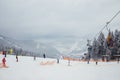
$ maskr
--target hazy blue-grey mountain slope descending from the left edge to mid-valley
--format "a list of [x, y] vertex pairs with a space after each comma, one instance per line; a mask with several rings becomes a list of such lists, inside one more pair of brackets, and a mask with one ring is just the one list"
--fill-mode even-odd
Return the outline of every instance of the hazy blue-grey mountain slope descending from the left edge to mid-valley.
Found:
[[38, 43], [34, 40], [17, 41], [3, 35], [0, 35], [0, 47], [14, 47], [17, 49], [22, 49], [23, 51], [30, 52], [27, 53], [28, 55], [32, 53], [33, 55], [40, 57], [42, 57], [43, 53], [45, 53], [46, 56], [50, 58], [57, 58], [60, 56], [60, 52], [50, 45]]

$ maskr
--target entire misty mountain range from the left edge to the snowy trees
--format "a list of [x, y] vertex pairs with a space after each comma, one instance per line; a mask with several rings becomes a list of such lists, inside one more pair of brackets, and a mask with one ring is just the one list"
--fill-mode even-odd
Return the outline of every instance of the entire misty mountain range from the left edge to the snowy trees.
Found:
[[62, 55], [81, 54], [87, 51], [87, 38], [81, 39], [39, 39], [39, 40], [15, 40], [0, 35], [0, 45], [4, 47], [14, 47], [29, 51], [36, 56], [42, 57], [45, 53], [47, 57], [57, 58]]

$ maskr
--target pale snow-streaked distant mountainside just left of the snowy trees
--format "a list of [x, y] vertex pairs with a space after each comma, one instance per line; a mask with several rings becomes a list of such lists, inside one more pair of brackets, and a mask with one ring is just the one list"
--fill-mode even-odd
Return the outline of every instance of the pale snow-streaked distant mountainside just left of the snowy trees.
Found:
[[87, 51], [87, 39], [54, 42], [53, 46], [62, 54], [81, 54]]

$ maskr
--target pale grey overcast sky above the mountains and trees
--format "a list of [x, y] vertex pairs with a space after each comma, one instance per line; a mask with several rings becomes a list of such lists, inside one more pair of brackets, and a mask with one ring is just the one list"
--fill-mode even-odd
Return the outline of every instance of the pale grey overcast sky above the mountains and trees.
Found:
[[[0, 0], [0, 34], [15, 39], [96, 34], [120, 10], [120, 0]], [[120, 29], [120, 14], [109, 25]]]

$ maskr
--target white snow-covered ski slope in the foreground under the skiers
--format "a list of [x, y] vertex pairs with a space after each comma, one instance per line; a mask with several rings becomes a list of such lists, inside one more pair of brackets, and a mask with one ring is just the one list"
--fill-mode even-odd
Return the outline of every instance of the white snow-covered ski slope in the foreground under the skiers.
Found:
[[[68, 66], [65, 60], [57, 64], [55, 59], [36, 58], [34, 61], [33, 57], [18, 57], [19, 62], [16, 62], [15, 56], [7, 55], [9, 68], [0, 68], [0, 80], [120, 80], [120, 64], [117, 62], [95, 65], [93, 62], [71, 61]], [[0, 55], [0, 60], [2, 58]], [[53, 63], [41, 65], [47, 61]]]

